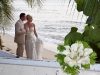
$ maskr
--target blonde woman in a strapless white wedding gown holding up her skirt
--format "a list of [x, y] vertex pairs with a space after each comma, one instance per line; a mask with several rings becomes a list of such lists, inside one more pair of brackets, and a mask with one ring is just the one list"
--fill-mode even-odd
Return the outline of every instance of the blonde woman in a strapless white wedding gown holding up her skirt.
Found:
[[[27, 22], [24, 24], [24, 28], [26, 30], [25, 49], [26, 49], [27, 59], [32, 59], [32, 60], [42, 59], [41, 53], [37, 51], [37, 49], [38, 50], [42, 49], [41, 48], [42, 41], [38, 38], [35, 29], [35, 24], [32, 23], [32, 16], [27, 15], [26, 18], [27, 18]], [[34, 35], [36, 36], [36, 41]], [[39, 45], [40, 48], [38, 48], [38, 46], [36, 45]]]

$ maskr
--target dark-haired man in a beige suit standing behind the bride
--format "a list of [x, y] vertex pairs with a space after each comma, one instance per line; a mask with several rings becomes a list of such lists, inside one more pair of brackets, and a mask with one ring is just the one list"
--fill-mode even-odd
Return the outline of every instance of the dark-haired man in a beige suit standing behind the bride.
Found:
[[15, 38], [14, 42], [17, 43], [16, 58], [23, 56], [24, 45], [25, 45], [25, 29], [23, 21], [26, 20], [25, 13], [20, 14], [20, 19], [15, 24]]

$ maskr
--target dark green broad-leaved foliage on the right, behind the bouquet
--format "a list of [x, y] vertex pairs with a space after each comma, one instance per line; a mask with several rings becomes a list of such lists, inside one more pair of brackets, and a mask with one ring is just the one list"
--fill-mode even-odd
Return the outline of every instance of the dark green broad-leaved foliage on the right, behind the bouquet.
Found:
[[[77, 5], [78, 12], [83, 12], [88, 16], [84, 32], [77, 32], [78, 28], [72, 27], [71, 32], [65, 37], [70, 45], [75, 41], [85, 41], [97, 53], [97, 61], [100, 60], [100, 1], [99, 0], [74, 0]], [[69, 3], [71, 0], [69, 0]], [[69, 4], [70, 5], [70, 4]]]

